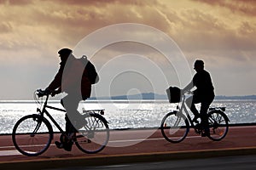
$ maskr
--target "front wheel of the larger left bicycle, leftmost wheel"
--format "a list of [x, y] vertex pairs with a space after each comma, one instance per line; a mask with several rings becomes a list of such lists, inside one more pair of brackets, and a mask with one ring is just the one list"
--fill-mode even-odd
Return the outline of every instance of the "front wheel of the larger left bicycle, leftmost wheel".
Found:
[[39, 115], [21, 117], [12, 133], [15, 148], [25, 156], [38, 156], [49, 148], [53, 138], [49, 122]]

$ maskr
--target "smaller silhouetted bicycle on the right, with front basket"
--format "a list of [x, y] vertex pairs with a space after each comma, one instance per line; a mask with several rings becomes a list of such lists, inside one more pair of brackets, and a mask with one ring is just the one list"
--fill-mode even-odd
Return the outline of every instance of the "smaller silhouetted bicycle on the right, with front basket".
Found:
[[[171, 111], [163, 117], [160, 129], [165, 139], [172, 143], [179, 143], [186, 138], [189, 128], [194, 128], [195, 133], [202, 134], [204, 128], [201, 122], [193, 122], [184, 104], [185, 94], [182, 94], [181, 103], [177, 105], [177, 111]], [[207, 113], [210, 127], [209, 139], [219, 141], [224, 139], [229, 130], [229, 118], [224, 113], [225, 107], [209, 108]], [[190, 126], [189, 126], [190, 123]]]

